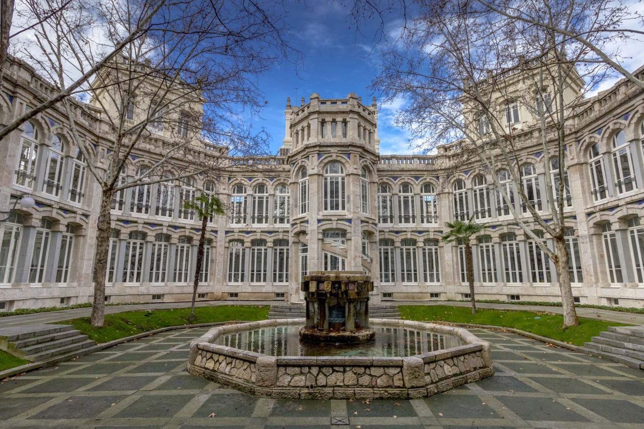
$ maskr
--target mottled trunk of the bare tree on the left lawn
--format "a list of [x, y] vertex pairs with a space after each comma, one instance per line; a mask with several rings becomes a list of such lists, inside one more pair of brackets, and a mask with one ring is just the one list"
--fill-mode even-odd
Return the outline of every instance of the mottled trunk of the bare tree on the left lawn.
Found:
[[[105, 323], [105, 277], [108, 270], [110, 210], [113, 189], [103, 189], [99, 220], [96, 225], [96, 262], [94, 265], [94, 303], [91, 307], [91, 325], [100, 328]], [[117, 275], [115, 272], [114, 275]]]

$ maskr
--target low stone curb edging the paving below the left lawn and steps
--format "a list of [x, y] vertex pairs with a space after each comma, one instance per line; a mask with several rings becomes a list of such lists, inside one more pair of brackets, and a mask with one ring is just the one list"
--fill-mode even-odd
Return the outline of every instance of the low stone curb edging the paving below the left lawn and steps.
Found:
[[140, 332], [139, 334], [134, 334], [129, 337], [113, 339], [112, 341], [108, 341], [107, 343], [99, 343], [97, 345], [93, 345], [88, 348], [81, 348], [81, 350], [76, 350], [75, 352], [72, 352], [72, 353], [61, 354], [61, 356], [56, 356], [56, 357], [53, 357], [52, 359], [47, 359], [46, 361], [28, 363], [26, 365], [21, 365], [20, 367], [14, 367], [14, 368], [9, 368], [8, 370], [0, 371], [0, 380], [5, 379], [6, 377], [15, 376], [16, 374], [21, 374], [23, 372], [35, 370], [38, 368], [50, 367], [55, 363], [68, 361], [70, 359], [73, 359], [74, 357], [85, 356], [86, 354], [90, 354], [93, 352], [100, 352], [100, 350], [104, 350], [105, 348], [109, 348], [121, 343], [126, 343], [128, 341], [132, 341], [133, 339], [143, 338], [154, 334], [160, 334], [161, 332], [166, 332], [167, 330], [204, 328], [204, 327], [227, 325], [227, 324], [234, 324], [234, 323], [247, 323], [247, 321], [230, 320], [230, 321], [221, 321], [221, 322], [213, 322], [213, 323], [197, 323], [196, 325], [167, 326], [164, 328], [148, 330], [146, 332]]

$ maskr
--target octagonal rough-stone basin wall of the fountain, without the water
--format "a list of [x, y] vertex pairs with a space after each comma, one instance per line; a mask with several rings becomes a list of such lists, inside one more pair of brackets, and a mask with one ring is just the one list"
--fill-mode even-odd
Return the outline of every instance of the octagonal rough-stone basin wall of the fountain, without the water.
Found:
[[191, 343], [188, 372], [278, 399], [412, 399], [494, 374], [489, 343], [465, 329], [417, 321], [370, 319], [370, 325], [442, 334], [457, 338], [460, 345], [413, 356], [270, 356], [215, 344], [231, 334], [304, 323], [305, 319], [277, 319], [211, 329]]

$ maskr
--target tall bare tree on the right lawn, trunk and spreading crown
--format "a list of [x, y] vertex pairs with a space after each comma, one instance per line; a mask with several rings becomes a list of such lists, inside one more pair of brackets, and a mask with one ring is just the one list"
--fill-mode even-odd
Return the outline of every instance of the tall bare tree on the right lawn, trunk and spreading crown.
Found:
[[[565, 241], [565, 151], [574, 107], [603, 79], [607, 64], [554, 28], [583, 32], [594, 46], [604, 46], [614, 36], [601, 28], [614, 17], [573, 16], [576, 9], [566, 2], [526, 2], [522, 13], [548, 23], [540, 26], [497, 14], [479, 1], [416, 3], [417, 18], [389, 45], [374, 85], [388, 99], [409, 101], [397, 120], [423, 149], [456, 141], [447, 146], [452, 163], [476, 161], [489, 171], [497, 209], [554, 262], [564, 327], [577, 325]], [[524, 165], [525, 148], [542, 153], [545, 189], [526, 178], [532, 171]], [[553, 239], [554, 249], [534, 227]]]

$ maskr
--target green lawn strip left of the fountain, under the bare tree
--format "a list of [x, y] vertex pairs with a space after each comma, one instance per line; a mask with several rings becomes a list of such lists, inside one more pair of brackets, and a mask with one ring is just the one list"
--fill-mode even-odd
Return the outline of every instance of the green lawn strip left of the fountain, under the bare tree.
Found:
[[124, 338], [140, 332], [169, 326], [212, 323], [227, 320], [263, 320], [269, 316], [268, 306], [256, 305], [218, 305], [216, 307], [197, 307], [194, 309], [196, 319], [188, 323], [190, 309], [128, 311], [105, 316], [105, 325], [95, 329], [90, 318], [64, 321], [73, 325], [97, 343], [106, 343], [113, 339]]

